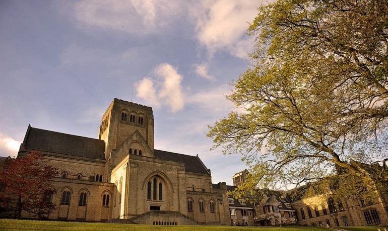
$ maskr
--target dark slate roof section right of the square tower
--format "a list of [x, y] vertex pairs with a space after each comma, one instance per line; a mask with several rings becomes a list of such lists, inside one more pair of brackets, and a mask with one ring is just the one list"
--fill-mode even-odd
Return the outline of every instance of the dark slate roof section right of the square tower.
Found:
[[201, 159], [197, 156], [189, 156], [179, 153], [167, 152], [155, 149], [155, 157], [168, 160], [181, 162], [184, 164], [186, 172], [201, 173], [210, 175], [208, 168], [202, 163]]

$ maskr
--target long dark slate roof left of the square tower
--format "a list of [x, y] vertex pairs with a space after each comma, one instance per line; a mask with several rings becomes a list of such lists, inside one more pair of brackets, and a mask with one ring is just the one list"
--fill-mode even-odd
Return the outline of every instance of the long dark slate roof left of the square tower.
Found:
[[29, 127], [23, 143], [28, 149], [105, 160], [103, 140]]

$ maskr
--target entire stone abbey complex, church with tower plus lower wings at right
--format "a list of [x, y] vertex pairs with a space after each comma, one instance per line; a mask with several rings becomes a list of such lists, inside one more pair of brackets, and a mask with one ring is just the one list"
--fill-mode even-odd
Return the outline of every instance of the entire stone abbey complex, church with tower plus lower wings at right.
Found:
[[388, 224], [386, 192], [376, 201], [337, 204], [330, 192], [291, 200], [285, 192], [266, 190], [253, 204], [230, 198], [227, 192], [244, 182], [247, 170], [233, 176], [233, 186], [213, 184], [198, 155], [155, 149], [154, 139], [152, 108], [115, 98], [103, 114], [97, 139], [28, 126], [18, 157], [37, 151], [60, 169], [51, 184], [56, 193], [45, 197], [56, 205], [48, 219], [151, 225]]

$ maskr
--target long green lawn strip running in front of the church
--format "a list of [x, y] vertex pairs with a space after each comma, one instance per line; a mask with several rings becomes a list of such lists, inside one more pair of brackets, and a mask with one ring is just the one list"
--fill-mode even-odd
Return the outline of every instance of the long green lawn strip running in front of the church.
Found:
[[162, 226], [67, 221], [36, 221], [0, 219], [0, 230], [269, 230], [269, 231], [326, 231], [323, 227], [243, 227], [243, 226]]

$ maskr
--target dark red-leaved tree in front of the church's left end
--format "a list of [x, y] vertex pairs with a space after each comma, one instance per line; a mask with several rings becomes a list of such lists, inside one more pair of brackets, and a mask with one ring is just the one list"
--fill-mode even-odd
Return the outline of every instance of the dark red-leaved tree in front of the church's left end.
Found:
[[55, 189], [50, 186], [50, 180], [57, 174], [57, 168], [48, 165], [36, 152], [11, 161], [0, 173], [2, 216], [20, 218], [22, 212], [48, 216], [55, 208], [51, 203]]

